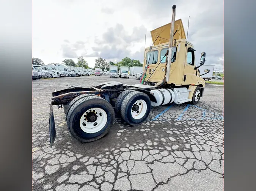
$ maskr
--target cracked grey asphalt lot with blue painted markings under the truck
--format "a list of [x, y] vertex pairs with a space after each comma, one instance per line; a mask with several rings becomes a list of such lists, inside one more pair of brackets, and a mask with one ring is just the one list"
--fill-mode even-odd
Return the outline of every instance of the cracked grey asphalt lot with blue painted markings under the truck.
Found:
[[143, 124], [116, 118], [108, 134], [82, 143], [68, 131], [63, 109], [53, 106], [56, 139], [49, 143], [54, 89], [92, 86], [109, 76], [32, 81], [33, 191], [222, 191], [223, 86], [206, 84], [197, 105], [152, 107]]

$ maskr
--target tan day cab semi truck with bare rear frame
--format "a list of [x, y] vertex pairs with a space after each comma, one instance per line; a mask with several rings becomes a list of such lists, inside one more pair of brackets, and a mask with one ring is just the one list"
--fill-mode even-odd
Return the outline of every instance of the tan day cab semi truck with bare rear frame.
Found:
[[[196, 50], [192, 43], [187, 42], [181, 19], [175, 21], [175, 12], [176, 5], [173, 5], [171, 23], [151, 31], [153, 45], [144, 52], [141, 84], [124, 85], [110, 81], [52, 93], [50, 147], [56, 137], [53, 105], [63, 107], [73, 137], [92, 142], [107, 134], [115, 112], [126, 123], [136, 126], [147, 119], [151, 106], [185, 102], [195, 105], [199, 102], [205, 81], [198, 68], [204, 64], [206, 53], [202, 52], [200, 65], [195, 66]], [[128, 73], [128, 69], [126, 71]]]

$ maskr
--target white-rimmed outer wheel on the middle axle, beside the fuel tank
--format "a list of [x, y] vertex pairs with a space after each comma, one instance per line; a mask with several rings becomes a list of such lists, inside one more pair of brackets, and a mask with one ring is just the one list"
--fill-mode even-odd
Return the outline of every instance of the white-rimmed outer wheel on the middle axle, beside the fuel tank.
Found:
[[[139, 106], [137, 111], [140, 112], [138, 114], [135, 111], [132, 112], [134, 105], [142, 106]], [[148, 118], [150, 109], [151, 101], [147, 94], [138, 91], [130, 92], [130, 94], [126, 95], [121, 104], [121, 117], [129, 125], [140, 125], [142, 122], [144, 122], [144, 120]]]

